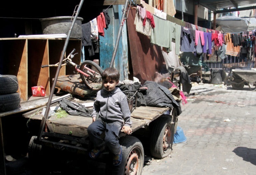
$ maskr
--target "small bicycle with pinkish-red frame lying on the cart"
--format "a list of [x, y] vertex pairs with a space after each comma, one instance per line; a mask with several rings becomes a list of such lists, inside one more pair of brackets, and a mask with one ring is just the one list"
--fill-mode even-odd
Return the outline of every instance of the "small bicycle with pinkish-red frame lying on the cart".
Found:
[[[76, 51], [76, 49], [73, 49], [70, 54], [67, 56], [67, 58], [63, 59], [63, 64], [61, 64], [61, 66], [66, 66], [67, 64], [74, 66], [75, 70], [77, 71], [77, 73], [80, 74], [83, 83], [87, 86], [88, 89], [90, 90], [100, 90], [103, 87], [102, 84], [102, 72], [103, 70], [101, 69], [101, 67], [96, 64], [95, 62], [91, 61], [91, 60], [85, 60], [84, 62], [82, 62], [81, 65], [77, 65], [74, 62], [72, 62], [72, 58], [74, 58], [74, 56], [78, 53], [74, 52]], [[50, 64], [50, 65], [42, 65], [42, 68], [45, 67], [58, 67], [59, 66], [59, 62], [56, 64]]]

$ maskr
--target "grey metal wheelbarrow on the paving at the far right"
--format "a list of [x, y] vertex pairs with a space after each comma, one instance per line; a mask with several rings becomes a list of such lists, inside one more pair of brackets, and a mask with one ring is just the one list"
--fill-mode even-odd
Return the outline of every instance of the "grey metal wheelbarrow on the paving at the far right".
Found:
[[241, 90], [244, 85], [247, 84], [251, 91], [255, 91], [256, 86], [254, 85], [256, 82], [256, 69], [232, 69], [230, 82], [233, 89]]

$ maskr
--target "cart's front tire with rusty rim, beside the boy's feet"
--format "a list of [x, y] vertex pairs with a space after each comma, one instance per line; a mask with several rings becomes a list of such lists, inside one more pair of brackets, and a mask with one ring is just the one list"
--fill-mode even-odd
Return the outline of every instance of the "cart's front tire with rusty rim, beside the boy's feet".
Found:
[[[144, 165], [144, 149], [141, 141], [133, 136], [124, 136], [119, 139], [122, 147], [122, 162], [118, 166], [108, 161], [106, 174], [108, 175], [139, 175]], [[111, 157], [110, 157], [111, 158]]]

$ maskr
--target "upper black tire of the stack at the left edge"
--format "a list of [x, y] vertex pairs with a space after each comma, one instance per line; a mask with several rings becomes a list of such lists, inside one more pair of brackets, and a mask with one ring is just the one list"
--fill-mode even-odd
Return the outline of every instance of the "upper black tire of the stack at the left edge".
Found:
[[18, 88], [18, 79], [15, 75], [0, 75], [0, 95], [15, 93]]

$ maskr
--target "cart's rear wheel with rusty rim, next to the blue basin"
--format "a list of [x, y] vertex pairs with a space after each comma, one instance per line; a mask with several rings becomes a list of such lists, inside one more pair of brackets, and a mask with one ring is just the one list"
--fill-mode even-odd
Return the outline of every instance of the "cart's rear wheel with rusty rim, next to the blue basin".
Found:
[[157, 118], [152, 126], [150, 153], [153, 157], [162, 159], [167, 157], [172, 149], [174, 138], [174, 124], [172, 118], [168, 115], [162, 115]]

